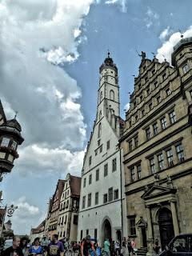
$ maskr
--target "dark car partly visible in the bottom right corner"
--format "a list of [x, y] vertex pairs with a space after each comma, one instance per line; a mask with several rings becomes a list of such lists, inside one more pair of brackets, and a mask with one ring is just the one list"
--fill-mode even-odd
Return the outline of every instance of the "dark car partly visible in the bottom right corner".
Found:
[[173, 238], [159, 256], [192, 256], [192, 233]]

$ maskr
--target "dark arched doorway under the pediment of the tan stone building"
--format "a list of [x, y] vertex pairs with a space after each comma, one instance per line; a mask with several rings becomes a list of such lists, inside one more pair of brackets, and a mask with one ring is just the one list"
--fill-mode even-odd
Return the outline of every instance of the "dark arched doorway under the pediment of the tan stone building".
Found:
[[162, 250], [174, 238], [174, 226], [171, 211], [167, 208], [159, 210], [158, 225], [161, 237]]

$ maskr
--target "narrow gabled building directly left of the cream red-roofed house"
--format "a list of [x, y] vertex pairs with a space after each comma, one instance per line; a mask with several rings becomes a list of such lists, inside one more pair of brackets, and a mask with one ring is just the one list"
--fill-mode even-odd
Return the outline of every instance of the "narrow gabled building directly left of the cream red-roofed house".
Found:
[[51, 238], [52, 234], [58, 234], [58, 214], [64, 185], [65, 181], [59, 179], [58, 185], [51, 200], [50, 214], [48, 214], [48, 218], [46, 218], [46, 229], [49, 230], [47, 234], [48, 238]]

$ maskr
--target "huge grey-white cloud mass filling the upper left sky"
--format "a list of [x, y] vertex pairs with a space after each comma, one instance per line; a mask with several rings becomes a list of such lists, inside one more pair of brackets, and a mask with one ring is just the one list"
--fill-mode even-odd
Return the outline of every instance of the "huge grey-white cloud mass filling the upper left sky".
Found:
[[[79, 56], [78, 45], [86, 40], [82, 20], [92, 2], [0, 3], [0, 98], [10, 118], [18, 110], [25, 138], [17, 160], [22, 174], [30, 167], [24, 165], [26, 159], [34, 172], [44, 168], [50, 173], [55, 167], [51, 160], [58, 160], [57, 169], [80, 168], [86, 140], [86, 123], [78, 103], [82, 92], [63, 66]], [[78, 158], [77, 166], [70, 166], [72, 157]], [[33, 162], [34, 158], [38, 161]]]

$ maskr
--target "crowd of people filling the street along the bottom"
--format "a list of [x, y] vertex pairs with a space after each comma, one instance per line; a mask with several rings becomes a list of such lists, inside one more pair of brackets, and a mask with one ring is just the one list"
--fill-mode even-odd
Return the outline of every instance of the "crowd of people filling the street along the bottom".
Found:
[[[30, 244], [27, 238], [13, 238], [13, 246], [3, 252], [3, 256], [137, 256], [137, 245], [134, 238], [122, 238], [122, 241], [110, 241], [105, 239], [103, 246], [99, 246], [96, 239], [91, 239], [90, 235], [82, 239], [82, 242], [69, 242], [66, 239], [58, 240], [58, 234], [53, 234], [52, 240], [46, 237], [35, 238]], [[154, 256], [158, 256], [161, 248], [158, 239], [154, 242]]]

